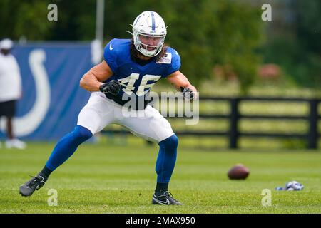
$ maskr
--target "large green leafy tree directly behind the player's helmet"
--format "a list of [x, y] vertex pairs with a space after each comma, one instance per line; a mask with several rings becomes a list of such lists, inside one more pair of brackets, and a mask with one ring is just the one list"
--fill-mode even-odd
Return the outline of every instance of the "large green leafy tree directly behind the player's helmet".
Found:
[[146, 1], [106, 3], [106, 36], [131, 35], [128, 24], [142, 11], [157, 11], [168, 25], [166, 43], [180, 53], [182, 71], [198, 84], [210, 78], [213, 66], [230, 66], [240, 80], [243, 93], [253, 83], [260, 56], [255, 48], [262, 40], [260, 8], [237, 1]]

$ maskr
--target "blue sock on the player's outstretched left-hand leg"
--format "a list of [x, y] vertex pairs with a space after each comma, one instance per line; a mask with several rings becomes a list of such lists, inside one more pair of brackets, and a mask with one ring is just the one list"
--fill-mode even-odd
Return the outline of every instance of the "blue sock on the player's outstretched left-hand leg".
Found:
[[93, 134], [90, 130], [77, 125], [71, 133], [63, 136], [63, 138], [57, 142], [56, 147], [54, 147], [53, 152], [51, 152], [49, 160], [46, 162], [46, 167], [51, 171], [56, 170], [59, 165], [63, 164], [63, 162], [73, 155], [78, 145], [81, 145], [81, 143], [91, 138], [91, 136], [93, 136]]

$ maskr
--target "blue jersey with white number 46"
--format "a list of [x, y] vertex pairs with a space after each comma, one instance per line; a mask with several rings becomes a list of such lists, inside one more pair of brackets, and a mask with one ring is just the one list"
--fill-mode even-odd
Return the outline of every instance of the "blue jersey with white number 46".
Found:
[[118, 80], [121, 83], [122, 89], [116, 98], [113, 98], [121, 105], [125, 103], [121, 102], [124, 93], [126, 96], [134, 95], [138, 99], [144, 97], [158, 80], [180, 68], [180, 56], [170, 47], [167, 48], [167, 53], [161, 60], [156, 61], [156, 58], [152, 58], [141, 66], [131, 59], [131, 40], [129, 39], [111, 40], [105, 47], [103, 58], [113, 71], [113, 76], [107, 81]]

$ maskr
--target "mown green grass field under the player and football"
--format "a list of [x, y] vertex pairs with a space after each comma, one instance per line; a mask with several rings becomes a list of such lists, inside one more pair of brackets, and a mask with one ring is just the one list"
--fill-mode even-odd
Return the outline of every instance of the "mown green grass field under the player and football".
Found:
[[[0, 149], [0, 213], [321, 213], [321, 152], [202, 151], [180, 147], [170, 192], [183, 206], [151, 205], [157, 150], [146, 145], [84, 144], [58, 167], [41, 190], [19, 195], [19, 185], [44, 166], [54, 144], [29, 143], [27, 150]], [[245, 181], [226, 172], [242, 162]], [[305, 189], [277, 192], [297, 180]], [[49, 206], [50, 189], [58, 205]], [[263, 189], [272, 206], [263, 207]]]

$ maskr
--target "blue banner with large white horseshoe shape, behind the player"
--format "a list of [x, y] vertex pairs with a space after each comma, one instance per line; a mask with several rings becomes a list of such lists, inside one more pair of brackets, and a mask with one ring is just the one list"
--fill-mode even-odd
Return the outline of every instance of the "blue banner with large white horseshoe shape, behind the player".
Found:
[[91, 43], [27, 44], [15, 46], [12, 53], [23, 88], [14, 118], [16, 137], [58, 140], [73, 130], [88, 101], [90, 93], [79, 81], [93, 66]]

